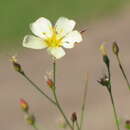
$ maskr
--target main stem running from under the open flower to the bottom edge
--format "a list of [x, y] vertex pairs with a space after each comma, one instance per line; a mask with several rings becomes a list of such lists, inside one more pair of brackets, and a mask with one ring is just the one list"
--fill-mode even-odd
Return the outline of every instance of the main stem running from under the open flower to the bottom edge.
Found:
[[57, 95], [56, 95], [56, 60], [55, 59], [53, 61], [53, 82], [54, 82], [53, 95], [54, 95], [54, 99], [55, 99], [55, 102], [56, 102], [56, 106], [57, 106], [58, 110], [60, 111], [60, 113], [62, 114], [62, 116], [64, 117], [68, 126], [73, 130], [73, 127], [70, 124], [68, 118], [66, 117], [64, 111], [62, 110], [60, 103], [58, 101]]

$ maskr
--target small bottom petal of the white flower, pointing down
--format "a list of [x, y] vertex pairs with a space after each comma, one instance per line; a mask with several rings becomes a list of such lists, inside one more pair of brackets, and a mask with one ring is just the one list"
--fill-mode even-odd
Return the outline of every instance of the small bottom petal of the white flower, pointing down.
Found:
[[65, 51], [61, 47], [58, 47], [58, 48], [51, 48], [50, 47], [47, 50], [56, 59], [60, 59], [61, 57], [63, 57], [65, 55]]

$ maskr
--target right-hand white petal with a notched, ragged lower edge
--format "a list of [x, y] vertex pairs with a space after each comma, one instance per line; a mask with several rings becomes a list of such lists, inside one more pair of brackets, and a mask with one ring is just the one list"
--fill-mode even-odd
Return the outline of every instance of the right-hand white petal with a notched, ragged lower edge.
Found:
[[74, 43], [79, 43], [82, 41], [82, 36], [78, 31], [72, 31], [68, 33], [62, 40], [63, 47], [65, 48], [73, 48]]

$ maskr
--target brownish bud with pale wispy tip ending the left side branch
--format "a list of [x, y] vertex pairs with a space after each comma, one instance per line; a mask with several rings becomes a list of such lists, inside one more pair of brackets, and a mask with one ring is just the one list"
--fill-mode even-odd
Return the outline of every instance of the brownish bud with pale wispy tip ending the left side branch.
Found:
[[16, 59], [15, 56], [12, 56], [12, 57], [11, 57], [11, 62], [12, 62], [12, 64], [13, 64], [13, 66], [14, 66], [14, 69], [15, 69], [17, 72], [19, 72], [19, 73], [21, 73], [21, 74], [24, 74], [24, 72], [23, 72], [23, 70], [22, 70], [22, 68], [21, 68], [21, 65], [17, 62], [17, 59]]

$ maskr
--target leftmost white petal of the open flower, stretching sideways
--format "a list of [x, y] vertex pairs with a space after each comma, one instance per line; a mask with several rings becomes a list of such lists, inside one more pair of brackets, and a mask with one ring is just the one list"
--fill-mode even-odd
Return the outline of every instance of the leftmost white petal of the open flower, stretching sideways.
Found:
[[32, 49], [43, 49], [46, 47], [46, 44], [38, 37], [26, 35], [23, 40], [23, 46]]

